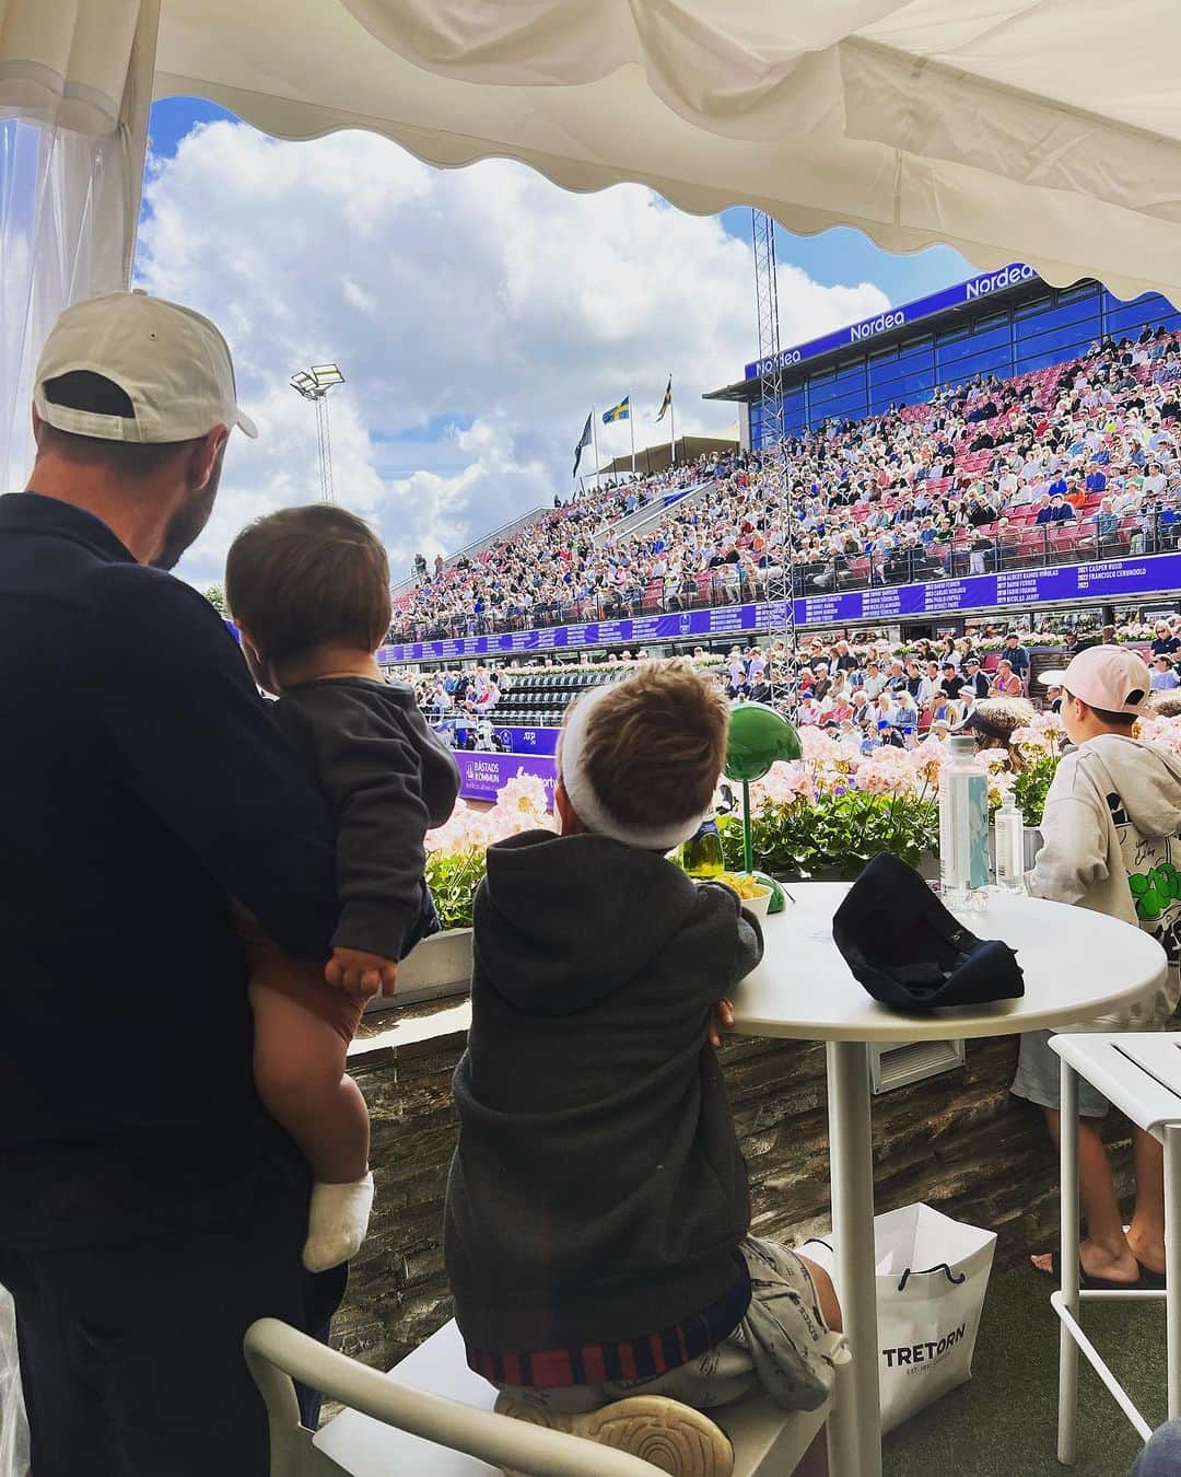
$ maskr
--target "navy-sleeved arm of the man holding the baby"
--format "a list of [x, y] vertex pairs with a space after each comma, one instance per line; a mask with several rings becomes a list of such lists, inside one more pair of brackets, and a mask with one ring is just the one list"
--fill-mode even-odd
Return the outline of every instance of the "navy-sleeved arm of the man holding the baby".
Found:
[[326, 957], [332, 815], [221, 617], [180, 580], [120, 564], [94, 576], [89, 637], [115, 772], [278, 944]]

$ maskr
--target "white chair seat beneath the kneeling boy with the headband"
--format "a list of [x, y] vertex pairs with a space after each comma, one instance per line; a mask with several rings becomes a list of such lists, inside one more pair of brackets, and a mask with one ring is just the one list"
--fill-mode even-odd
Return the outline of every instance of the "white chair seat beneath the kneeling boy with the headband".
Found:
[[[462, 1402], [464, 1406], [477, 1406], [481, 1413], [492, 1411], [496, 1402], [496, 1390], [468, 1368], [455, 1322], [419, 1344], [390, 1371], [390, 1378], [413, 1390]], [[779, 1409], [768, 1396], [756, 1396], [707, 1413], [734, 1446], [734, 1477], [787, 1477], [815, 1440], [828, 1409], [793, 1413]], [[350, 1477], [499, 1477], [500, 1471], [487, 1461], [391, 1430], [357, 1411], [345, 1411], [329, 1421], [313, 1445]], [[641, 1462], [639, 1467], [647, 1470], [648, 1464]], [[537, 1468], [539, 1473], [549, 1470]]]

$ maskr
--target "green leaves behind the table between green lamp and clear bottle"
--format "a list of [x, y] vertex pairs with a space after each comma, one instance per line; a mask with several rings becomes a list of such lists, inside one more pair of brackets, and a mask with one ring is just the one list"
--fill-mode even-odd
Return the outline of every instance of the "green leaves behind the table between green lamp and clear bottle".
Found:
[[[726, 866], [743, 870], [743, 823], [719, 821]], [[856, 877], [878, 852], [889, 851], [917, 867], [939, 849], [939, 803], [914, 795], [821, 795], [765, 805], [751, 827], [754, 866], [785, 880]]]

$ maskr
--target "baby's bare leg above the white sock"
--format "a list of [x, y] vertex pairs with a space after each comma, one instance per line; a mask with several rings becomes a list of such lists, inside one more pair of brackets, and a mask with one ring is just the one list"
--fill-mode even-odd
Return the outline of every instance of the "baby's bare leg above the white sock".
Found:
[[369, 1168], [369, 1112], [345, 1075], [345, 1043], [298, 1001], [251, 985], [254, 1083], [319, 1182], [347, 1185]]

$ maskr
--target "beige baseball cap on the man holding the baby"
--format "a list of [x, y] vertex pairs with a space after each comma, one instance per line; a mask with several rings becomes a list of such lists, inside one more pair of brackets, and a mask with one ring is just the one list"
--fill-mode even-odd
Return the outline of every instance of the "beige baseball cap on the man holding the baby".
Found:
[[[53, 405], [46, 381], [87, 369], [117, 384], [134, 418]], [[146, 292], [103, 292], [68, 307], [50, 329], [32, 387], [49, 425], [106, 442], [187, 442], [214, 425], [258, 430], [238, 408], [233, 360], [221, 332], [190, 307]]]

